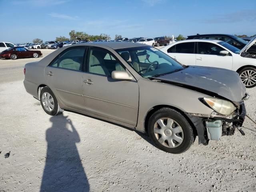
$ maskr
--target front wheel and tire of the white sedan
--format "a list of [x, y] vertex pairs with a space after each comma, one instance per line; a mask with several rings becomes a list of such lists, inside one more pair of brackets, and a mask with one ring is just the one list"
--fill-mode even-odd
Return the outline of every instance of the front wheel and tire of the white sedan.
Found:
[[256, 68], [245, 67], [238, 73], [246, 88], [253, 88], [256, 86]]

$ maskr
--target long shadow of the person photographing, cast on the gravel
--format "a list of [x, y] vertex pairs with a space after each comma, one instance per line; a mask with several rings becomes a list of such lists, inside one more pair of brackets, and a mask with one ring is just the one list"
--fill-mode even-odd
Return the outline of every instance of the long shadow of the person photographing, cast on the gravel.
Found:
[[47, 154], [40, 192], [88, 192], [90, 185], [76, 148], [80, 142], [78, 132], [63, 114], [51, 117], [50, 121], [52, 127], [46, 130]]

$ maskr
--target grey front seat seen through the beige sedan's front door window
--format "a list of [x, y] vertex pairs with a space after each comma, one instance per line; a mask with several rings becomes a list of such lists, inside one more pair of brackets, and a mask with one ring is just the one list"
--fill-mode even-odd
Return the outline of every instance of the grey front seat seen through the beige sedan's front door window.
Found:
[[90, 53], [89, 72], [110, 76], [102, 56], [95, 50]]

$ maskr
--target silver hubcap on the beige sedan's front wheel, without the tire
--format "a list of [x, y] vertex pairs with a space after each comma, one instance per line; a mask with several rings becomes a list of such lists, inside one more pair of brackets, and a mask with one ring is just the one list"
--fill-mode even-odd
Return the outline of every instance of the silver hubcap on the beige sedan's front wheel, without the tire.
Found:
[[168, 148], [182, 144], [184, 133], [182, 127], [171, 118], [160, 118], [154, 124], [154, 135], [158, 142]]

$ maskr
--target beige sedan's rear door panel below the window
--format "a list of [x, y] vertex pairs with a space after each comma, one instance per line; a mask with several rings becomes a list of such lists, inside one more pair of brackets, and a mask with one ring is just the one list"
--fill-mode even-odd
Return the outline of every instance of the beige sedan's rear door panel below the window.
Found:
[[84, 110], [82, 72], [47, 66], [44, 76], [63, 104]]

